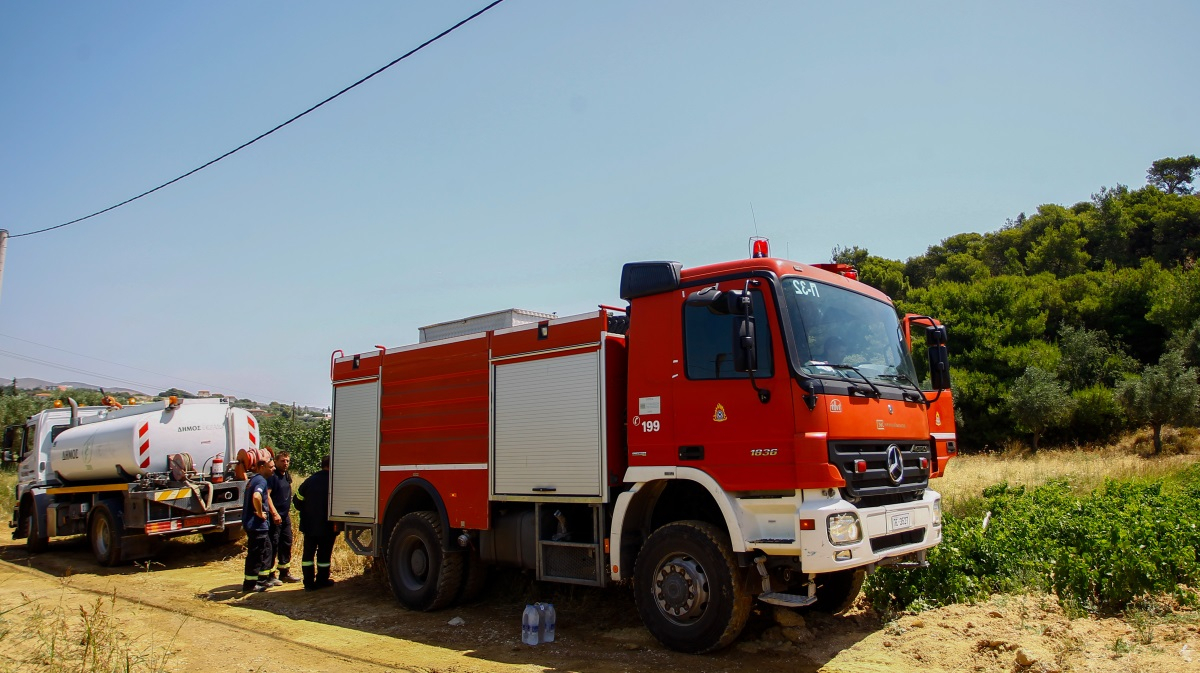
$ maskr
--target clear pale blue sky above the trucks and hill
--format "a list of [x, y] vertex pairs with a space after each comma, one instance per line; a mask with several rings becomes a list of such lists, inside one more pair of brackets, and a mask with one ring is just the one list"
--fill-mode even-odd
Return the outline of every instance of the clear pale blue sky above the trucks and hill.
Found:
[[[157, 186], [484, 5], [0, 4], [0, 228]], [[325, 405], [334, 349], [619, 304], [623, 263], [743, 257], [755, 220], [799, 262], [906, 259], [1195, 154], [1198, 25], [1192, 1], [506, 0], [12, 239], [0, 375]]]

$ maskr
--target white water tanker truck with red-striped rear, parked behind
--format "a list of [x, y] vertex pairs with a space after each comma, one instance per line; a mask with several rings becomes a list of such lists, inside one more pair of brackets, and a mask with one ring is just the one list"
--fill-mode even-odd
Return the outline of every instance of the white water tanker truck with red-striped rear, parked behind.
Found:
[[47, 409], [5, 429], [19, 462], [13, 539], [31, 552], [88, 535], [101, 565], [154, 553], [178, 535], [241, 535], [238, 458], [259, 451], [258, 421], [224, 399]]

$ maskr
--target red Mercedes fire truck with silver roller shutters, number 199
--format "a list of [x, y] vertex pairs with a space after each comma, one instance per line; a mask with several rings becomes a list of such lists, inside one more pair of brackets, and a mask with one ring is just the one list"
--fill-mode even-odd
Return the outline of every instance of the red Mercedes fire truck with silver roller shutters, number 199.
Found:
[[730, 644], [755, 600], [836, 612], [864, 572], [924, 564], [956, 452], [946, 328], [848, 266], [752, 251], [626, 264], [624, 308], [335, 351], [330, 513], [352, 548], [420, 611], [493, 564], [631, 582], [690, 653]]

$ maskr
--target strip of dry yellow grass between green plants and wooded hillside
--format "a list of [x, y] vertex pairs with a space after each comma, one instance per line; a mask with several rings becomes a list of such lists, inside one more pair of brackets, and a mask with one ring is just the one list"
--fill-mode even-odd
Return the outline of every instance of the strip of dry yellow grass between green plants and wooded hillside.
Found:
[[1121, 437], [1105, 446], [1042, 449], [1037, 453], [1013, 444], [996, 453], [959, 456], [950, 461], [946, 476], [934, 483], [942, 494], [947, 511], [983, 489], [1007, 481], [1013, 486], [1037, 486], [1052, 479], [1066, 479], [1076, 488], [1088, 491], [1105, 479], [1160, 479], [1200, 462], [1200, 446], [1194, 428], [1164, 431], [1160, 456], [1150, 455], [1153, 446], [1150, 431]]

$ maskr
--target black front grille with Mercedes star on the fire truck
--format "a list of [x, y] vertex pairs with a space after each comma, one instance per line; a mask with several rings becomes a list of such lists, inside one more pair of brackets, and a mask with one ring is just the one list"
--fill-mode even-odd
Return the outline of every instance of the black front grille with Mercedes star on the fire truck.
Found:
[[[888, 449], [895, 446], [904, 463], [904, 476], [896, 483], [888, 474]], [[929, 468], [920, 468], [920, 459], [932, 465], [928, 443], [916, 441], [830, 441], [829, 463], [846, 480], [842, 497], [863, 507], [896, 505], [919, 500], [929, 488]], [[856, 471], [857, 461], [866, 462], [866, 471]]]

